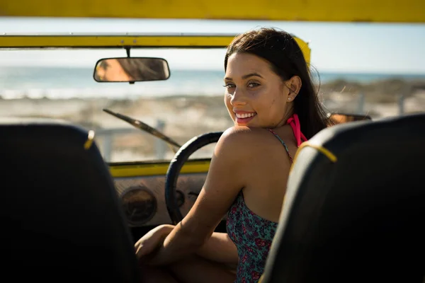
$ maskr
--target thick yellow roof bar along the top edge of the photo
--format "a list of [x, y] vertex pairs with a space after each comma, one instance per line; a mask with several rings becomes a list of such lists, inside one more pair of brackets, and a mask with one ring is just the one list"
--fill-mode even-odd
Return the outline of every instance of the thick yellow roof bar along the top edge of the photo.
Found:
[[0, 16], [425, 23], [425, 1], [2, 0]]

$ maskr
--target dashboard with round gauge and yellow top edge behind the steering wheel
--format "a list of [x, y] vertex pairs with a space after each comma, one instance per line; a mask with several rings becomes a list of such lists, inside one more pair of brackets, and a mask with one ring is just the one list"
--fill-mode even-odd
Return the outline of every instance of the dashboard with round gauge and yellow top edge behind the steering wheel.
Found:
[[[206, 162], [209, 166], [210, 161]], [[168, 168], [168, 164], [142, 164], [145, 169], [150, 171], [152, 171], [152, 168], [157, 168], [156, 172], [139, 170], [139, 173], [133, 174], [131, 171], [134, 172], [140, 164], [137, 166], [115, 166], [115, 172], [117, 169], [120, 170], [120, 173], [115, 173], [115, 176], [113, 173], [115, 190], [123, 207], [128, 226], [157, 226], [172, 223], [166, 209], [164, 194], [166, 180], [166, 170], [164, 169]], [[207, 171], [203, 170], [205, 169], [205, 160], [188, 161], [188, 166], [186, 168], [185, 166], [183, 166], [176, 184], [177, 202], [183, 216], [189, 212], [196, 202], [207, 176]], [[130, 173], [123, 174], [123, 171]]]

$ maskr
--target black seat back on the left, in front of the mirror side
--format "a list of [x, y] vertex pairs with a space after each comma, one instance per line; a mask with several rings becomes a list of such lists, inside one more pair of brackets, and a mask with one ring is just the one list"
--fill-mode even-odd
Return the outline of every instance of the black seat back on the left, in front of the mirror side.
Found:
[[130, 231], [89, 132], [62, 122], [0, 121], [0, 157], [1, 276], [138, 282]]

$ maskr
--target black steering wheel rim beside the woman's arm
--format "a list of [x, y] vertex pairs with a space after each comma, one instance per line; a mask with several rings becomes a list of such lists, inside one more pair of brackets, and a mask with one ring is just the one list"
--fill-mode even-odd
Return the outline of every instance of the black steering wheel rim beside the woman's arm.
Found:
[[179, 204], [177, 204], [176, 199], [177, 178], [179, 178], [183, 164], [186, 163], [189, 156], [198, 149], [217, 142], [222, 133], [223, 132], [209, 132], [207, 134], [200, 134], [197, 137], [193, 137], [188, 140], [186, 144], [183, 144], [179, 151], [177, 151], [174, 155], [174, 158], [171, 159], [168, 171], [166, 172], [165, 204], [174, 225], [178, 224], [183, 219], [183, 215], [181, 214]]

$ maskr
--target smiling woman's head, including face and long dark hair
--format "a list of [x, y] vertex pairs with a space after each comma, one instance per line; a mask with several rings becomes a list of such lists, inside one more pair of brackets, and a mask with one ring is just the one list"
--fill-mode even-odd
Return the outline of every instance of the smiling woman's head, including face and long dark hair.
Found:
[[[291, 35], [283, 35], [273, 29], [253, 30], [229, 45], [225, 103], [237, 125], [278, 128], [296, 114], [302, 132], [310, 138], [326, 127], [327, 113], [319, 103], [300, 47]], [[261, 47], [269, 41], [276, 47]]]

